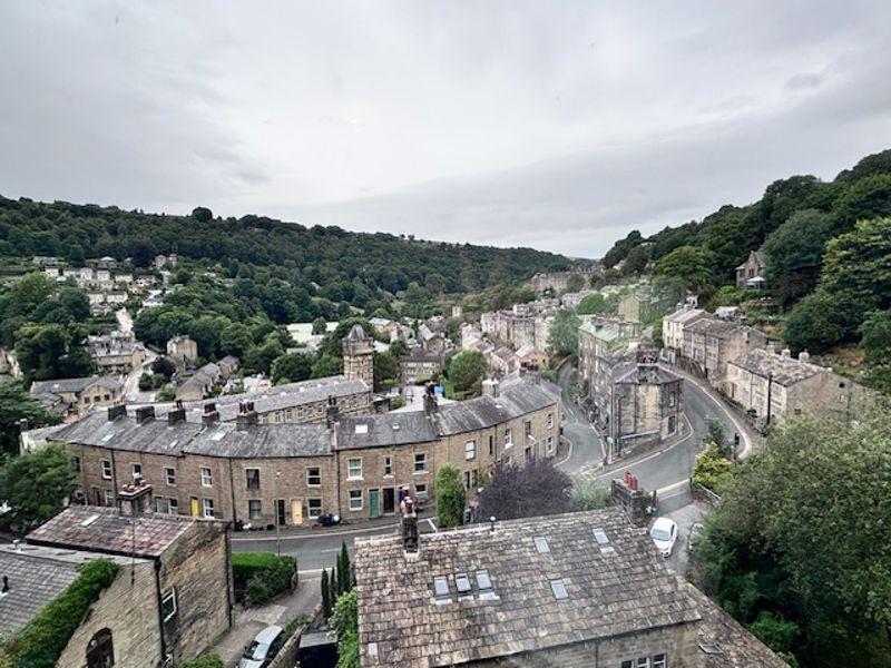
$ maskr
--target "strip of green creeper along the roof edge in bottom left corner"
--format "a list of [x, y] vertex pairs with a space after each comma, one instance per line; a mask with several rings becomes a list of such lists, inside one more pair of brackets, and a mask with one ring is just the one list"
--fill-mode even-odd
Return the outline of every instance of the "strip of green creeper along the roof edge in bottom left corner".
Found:
[[108, 559], [87, 561], [55, 600], [0, 645], [0, 666], [52, 668], [101, 592], [115, 581], [119, 567]]

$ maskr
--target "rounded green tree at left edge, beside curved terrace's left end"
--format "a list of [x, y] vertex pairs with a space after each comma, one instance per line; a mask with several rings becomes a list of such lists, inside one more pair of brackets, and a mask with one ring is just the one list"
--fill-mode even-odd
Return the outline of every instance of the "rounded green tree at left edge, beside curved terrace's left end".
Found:
[[58, 443], [47, 443], [8, 458], [0, 465], [0, 502], [9, 504], [3, 523], [27, 530], [59, 513], [75, 491], [71, 458]]

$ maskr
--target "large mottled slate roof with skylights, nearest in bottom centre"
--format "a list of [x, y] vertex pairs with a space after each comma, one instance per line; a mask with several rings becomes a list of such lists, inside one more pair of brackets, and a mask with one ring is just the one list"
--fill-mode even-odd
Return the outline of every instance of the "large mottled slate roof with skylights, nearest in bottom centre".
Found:
[[[537, 551], [536, 537], [550, 553]], [[478, 570], [488, 571], [497, 600], [479, 598]], [[618, 509], [424, 533], [417, 560], [404, 557], [399, 537], [360, 539], [355, 573], [362, 666], [452, 666], [701, 619], [653, 542]], [[458, 600], [456, 573], [468, 573], [473, 600]], [[434, 598], [440, 576], [452, 602]], [[558, 578], [561, 600], [550, 583]]]

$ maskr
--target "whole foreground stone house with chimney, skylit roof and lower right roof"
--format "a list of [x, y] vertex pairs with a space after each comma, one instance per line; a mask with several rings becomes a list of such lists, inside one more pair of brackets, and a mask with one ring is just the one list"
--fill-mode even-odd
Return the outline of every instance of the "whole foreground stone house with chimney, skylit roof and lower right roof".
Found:
[[417, 521], [356, 540], [362, 668], [786, 666], [617, 508], [421, 536]]

